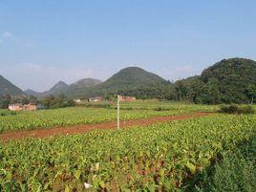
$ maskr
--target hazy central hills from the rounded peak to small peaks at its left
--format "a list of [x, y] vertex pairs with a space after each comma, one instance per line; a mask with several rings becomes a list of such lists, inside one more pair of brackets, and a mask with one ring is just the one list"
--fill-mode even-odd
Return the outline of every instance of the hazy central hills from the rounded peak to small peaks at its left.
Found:
[[26, 93], [37, 97], [60, 93], [72, 98], [105, 97], [116, 94], [147, 97], [147, 93], [150, 93], [151, 96], [158, 96], [160, 94], [159, 87], [166, 83], [167, 81], [159, 75], [152, 74], [139, 67], [127, 67], [104, 82], [93, 78], [84, 78], [66, 85], [66, 83], [60, 81], [48, 92], [36, 93], [30, 90]]

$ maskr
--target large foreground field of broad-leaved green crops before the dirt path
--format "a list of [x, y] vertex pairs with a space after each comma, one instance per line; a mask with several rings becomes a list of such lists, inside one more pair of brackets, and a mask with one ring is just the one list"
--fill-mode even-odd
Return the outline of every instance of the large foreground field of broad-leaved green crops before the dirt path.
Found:
[[256, 116], [215, 115], [1, 143], [0, 191], [200, 189], [203, 171], [255, 132]]

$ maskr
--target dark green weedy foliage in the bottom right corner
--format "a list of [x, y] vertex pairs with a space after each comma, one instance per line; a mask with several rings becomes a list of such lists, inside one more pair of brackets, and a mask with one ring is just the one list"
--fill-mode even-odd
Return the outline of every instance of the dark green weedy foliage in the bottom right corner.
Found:
[[[194, 191], [256, 191], [256, 137], [244, 140], [224, 153], [214, 167], [204, 172], [203, 185]], [[191, 189], [192, 191], [192, 189]]]

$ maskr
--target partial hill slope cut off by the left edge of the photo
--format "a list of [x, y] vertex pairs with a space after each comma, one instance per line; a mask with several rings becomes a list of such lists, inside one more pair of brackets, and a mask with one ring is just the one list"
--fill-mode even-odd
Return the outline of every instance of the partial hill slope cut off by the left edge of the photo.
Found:
[[0, 96], [11, 95], [11, 96], [21, 96], [25, 93], [19, 89], [17, 86], [13, 85], [9, 80], [0, 75]]

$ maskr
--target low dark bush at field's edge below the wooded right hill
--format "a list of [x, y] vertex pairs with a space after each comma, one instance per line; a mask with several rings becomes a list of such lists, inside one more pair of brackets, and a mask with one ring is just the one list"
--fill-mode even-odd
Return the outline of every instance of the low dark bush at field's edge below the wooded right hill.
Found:
[[254, 114], [255, 110], [253, 109], [252, 106], [239, 106], [239, 105], [224, 105], [221, 106], [220, 111], [221, 113], [224, 114]]

